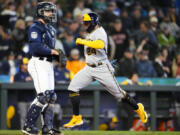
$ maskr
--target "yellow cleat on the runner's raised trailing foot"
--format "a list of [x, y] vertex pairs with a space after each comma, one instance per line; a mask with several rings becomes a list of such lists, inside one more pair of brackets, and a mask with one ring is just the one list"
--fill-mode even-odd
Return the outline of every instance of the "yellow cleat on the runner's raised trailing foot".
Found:
[[137, 105], [139, 108], [135, 110], [135, 112], [139, 115], [139, 118], [141, 119], [141, 121], [143, 123], [146, 123], [148, 120], [148, 116], [147, 116], [146, 111], [144, 110], [144, 106], [141, 103], [138, 103]]

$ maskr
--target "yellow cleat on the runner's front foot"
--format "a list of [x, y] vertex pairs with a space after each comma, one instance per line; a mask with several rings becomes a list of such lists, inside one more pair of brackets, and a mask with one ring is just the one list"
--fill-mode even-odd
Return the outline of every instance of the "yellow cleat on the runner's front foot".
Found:
[[73, 115], [71, 121], [64, 124], [65, 128], [73, 128], [75, 126], [80, 126], [83, 124], [82, 115]]

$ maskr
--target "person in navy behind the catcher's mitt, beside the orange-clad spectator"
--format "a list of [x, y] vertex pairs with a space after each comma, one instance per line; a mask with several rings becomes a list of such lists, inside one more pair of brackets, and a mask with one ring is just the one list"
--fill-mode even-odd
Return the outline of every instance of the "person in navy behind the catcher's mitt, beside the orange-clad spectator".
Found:
[[54, 67], [54, 78], [57, 84], [60, 83], [69, 83], [71, 76], [70, 71], [67, 70], [64, 66], [60, 63], [56, 63]]

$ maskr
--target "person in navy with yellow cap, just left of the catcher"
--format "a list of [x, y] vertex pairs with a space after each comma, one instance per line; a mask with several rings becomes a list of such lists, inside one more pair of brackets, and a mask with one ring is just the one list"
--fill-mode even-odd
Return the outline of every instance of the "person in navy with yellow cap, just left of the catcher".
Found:
[[30, 82], [32, 81], [31, 76], [27, 70], [28, 58], [23, 58], [20, 63], [20, 70], [14, 76], [14, 82]]

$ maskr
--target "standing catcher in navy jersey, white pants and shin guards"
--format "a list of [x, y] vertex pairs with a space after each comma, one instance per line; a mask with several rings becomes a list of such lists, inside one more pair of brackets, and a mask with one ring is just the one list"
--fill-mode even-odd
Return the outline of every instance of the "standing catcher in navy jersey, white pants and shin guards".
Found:
[[59, 53], [54, 49], [56, 31], [51, 23], [56, 22], [56, 6], [50, 2], [40, 2], [36, 14], [39, 19], [28, 32], [32, 50], [28, 71], [33, 78], [37, 97], [29, 108], [22, 132], [27, 135], [39, 134], [35, 122], [41, 113], [42, 134], [60, 135], [60, 131], [53, 129], [53, 106], [57, 96], [54, 92], [52, 56]]

